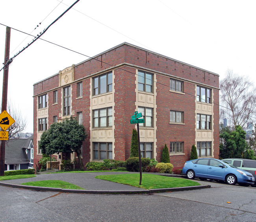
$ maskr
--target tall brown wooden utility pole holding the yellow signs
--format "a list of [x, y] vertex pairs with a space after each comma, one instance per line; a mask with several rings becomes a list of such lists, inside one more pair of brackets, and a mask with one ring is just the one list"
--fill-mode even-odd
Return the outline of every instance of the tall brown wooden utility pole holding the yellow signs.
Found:
[[[4, 76], [3, 76], [3, 92], [2, 92], [2, 112], [7, 109], [7, 90], [8, 90], [8, 73], [9, 73], [9, 60], [10, 56], [10, 39], [11, 28], [6, 27], [6, 47], [4, 52]], [[2, 130], [2, 129], [1, 129]], [[6, 143], [0, 140], [0, 176], [4, 176], [4, 162], [5, 162], [5, 149]]]

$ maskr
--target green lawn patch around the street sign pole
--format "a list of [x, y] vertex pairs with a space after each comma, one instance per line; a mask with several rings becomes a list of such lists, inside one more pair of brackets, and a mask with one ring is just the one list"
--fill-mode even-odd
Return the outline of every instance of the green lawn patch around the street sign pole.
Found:
[[101, 180], [108, 180], [116, 183], [122, 183], [143, 189], [159, 189], [200, 185], [200, 183], [194, 182], [192, 180], [171, 176], [160, 176], [155, 174], [142, 174], [141, 185], [139, 185], [139, 174], [100, 175], [96, 176], [95, 178]]

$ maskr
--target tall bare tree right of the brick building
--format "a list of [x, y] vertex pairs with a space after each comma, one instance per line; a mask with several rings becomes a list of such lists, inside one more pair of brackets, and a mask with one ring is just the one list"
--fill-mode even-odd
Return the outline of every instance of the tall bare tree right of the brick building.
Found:
[[221, 101], [227, 109], [221, 108], [228, 119], [232, 119], [234, 124], [242, 128], [250, 122], [250, 118], [255, 115], [256, 88], [247, 77], [234, 74], [228, 70], [227, 76], [220, 81]]

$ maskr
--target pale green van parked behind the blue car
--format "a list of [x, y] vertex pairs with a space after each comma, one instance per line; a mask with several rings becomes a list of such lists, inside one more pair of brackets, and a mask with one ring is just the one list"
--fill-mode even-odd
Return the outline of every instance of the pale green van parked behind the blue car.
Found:
[[228, 158], [228, 159], [223, 159], [222, 161], [226, 163], [230, 163], [239, 169], [250, 172], [255, 178], [255, 182], [253, 186], [256, 187], [256, 160]]

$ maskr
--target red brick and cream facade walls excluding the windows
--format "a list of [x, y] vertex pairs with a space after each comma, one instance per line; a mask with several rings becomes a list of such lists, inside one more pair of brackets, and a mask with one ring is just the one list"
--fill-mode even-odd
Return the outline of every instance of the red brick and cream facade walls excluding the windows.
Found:
[[[185, 64], [152, 51], [123, 43], [108, 51], [73, 65], [71, 77], [64, 83], [60, 73], [34, 84], [34, 162], [41, 158], [37, 145], [39, 114], [47, 117], [48, 127], [53, 116], [63, 119], [63, 87], [71, 86], [71, 114], [82, 112], [83, 125], [88, 137], [83, 144], [83, 163], [94, 160], [93, 142], [113, 144], [113, 158], [126, 160], [130, 156], [130, 143], [134, 124], [131, 116], [138, 106], [149, 105], [153, 110], [152, 127], [140, 127], [142, 141], [152, 143], [152, 158], [161, 161], [161, 150], [170, 142], [183, 142], [183, 151], [170, 154], [174, 169], [181, 169], [189, 160], [191, 147], [197, 141], [211, 142], [211, 157], [219, 157], [219, 76], [215, 73]], [[153, 75], [153, 92], [140, 92], [137, 87], [137, 72]], [[113, 73], [113, 91], [93, 95], [93, 78], [97, 75]], [[70, 72], [68, 68], [65, 72]], [[70, 75], [71, 76], [71, 75]], [[170, 90], [170, 78], [183, 83], [184, 92]], [[67, 80], [65, 79], [65, 80]], [[77, 83], [82, 82], [82, 97], [77, 98]], [[64, 83], [64, 84], [63, 84]], [[211, 103], [197, 102], [197, 85], [211, 90]], [[53, 91], [58, 90], [58, 103], [53, 104]], [[40, 112], [37, 98], [48, 95], [47, 110]], [[100, 101], [101, 99], [101, 101]], [[141, 101], [140, 101], [141, 99]], [[109, 101], [110, 102], [109, 102]], [[96, 103], [97, 105], [94, 105]], [[113, 127], [93, 128], [93, 107], [113, 108]], [[183, 113], [182, 124], [170, 123], [170, 110]], [[199, 110], [202, 110], [200, 112]], [[197, 130], [197, 114], [211, 116], [210, 130]], [[91, 135], [93, 134], [93, 135]], [[101, 134], [101, 135], [100, 135]], [[103, 136], [102, 136], [103, 135]], [[38, 155], [37, 155], [38, 154]], [[209, 156], [209, 155], [208, 155]]]

